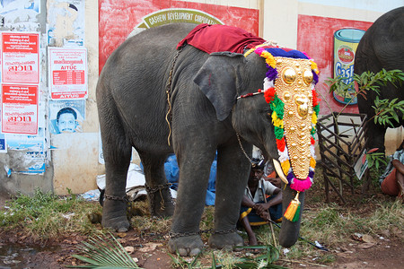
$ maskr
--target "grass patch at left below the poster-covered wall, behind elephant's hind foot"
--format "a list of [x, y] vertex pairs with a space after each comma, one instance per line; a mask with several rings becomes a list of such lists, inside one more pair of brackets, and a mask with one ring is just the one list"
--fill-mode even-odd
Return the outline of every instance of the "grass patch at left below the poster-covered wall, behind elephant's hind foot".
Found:
[[101, 213], [101, 206], [88, 203], [76, 195], [59, 197], [43, 193], [16, 195], [0, 211], [2, 230], [22, 230], [36, 239], [56, 239], [72, 233], [89, 234], [97, 230], [87, 215]]

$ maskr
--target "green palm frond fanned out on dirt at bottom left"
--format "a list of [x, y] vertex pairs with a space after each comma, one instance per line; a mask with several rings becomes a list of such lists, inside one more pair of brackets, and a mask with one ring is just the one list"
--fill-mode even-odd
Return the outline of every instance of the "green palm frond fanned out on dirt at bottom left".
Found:
[[77, 248], [83, 255], [73, 257], [87, 265], [68, 266], [74, 268], [140, 268], [119, 241], [110, 233], [110, 238], [95, 235]]

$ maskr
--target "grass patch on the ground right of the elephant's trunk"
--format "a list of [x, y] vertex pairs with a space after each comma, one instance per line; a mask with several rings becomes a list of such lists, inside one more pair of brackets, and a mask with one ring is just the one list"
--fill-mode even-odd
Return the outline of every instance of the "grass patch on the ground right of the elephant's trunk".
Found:
[[[398, 230], [404, 225], [404, 207], [400, 201], [368, 201], [373, 210], [365, 212], [361, 205], [356, 208], [338, 204], [326, 204], [317, 209], [304, 212], [301, 236], [321, 242], [329, 249], [347, 246], [355, 233], [378, 238], [384, 230]], [[370, 205], [372, 203], [372, 205]], [[366, 205], [362, 205], [365, 209]], [[327, 264], [336, 260], [333, 252], [319, 251], [303, 241], [298, 241], [287, 259], [302, 260], [316, 258], [316, 263]]]

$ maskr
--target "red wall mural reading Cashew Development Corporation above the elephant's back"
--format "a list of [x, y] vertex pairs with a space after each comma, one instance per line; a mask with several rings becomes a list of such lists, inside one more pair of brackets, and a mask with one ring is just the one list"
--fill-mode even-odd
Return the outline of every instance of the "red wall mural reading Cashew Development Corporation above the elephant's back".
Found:
[[256, 9], [159, 0], [100, 0], [99, 7], [100, 72], [111, 52], [129, 35], [162, 23], [224, 23], [259, 34], [259, 10]]

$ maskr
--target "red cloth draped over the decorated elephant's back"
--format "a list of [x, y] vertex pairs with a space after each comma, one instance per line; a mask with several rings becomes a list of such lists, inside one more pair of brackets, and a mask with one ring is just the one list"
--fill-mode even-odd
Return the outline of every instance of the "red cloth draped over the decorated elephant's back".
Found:
[[237, 27], [202, 23], [178, 43], [177, 49], [189, 44], [209, 54], [221, 51], [243, 53], [244, 49], [253, 48], [264, 42], [265, 39]]

